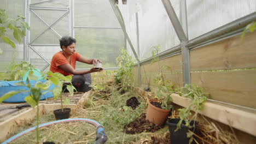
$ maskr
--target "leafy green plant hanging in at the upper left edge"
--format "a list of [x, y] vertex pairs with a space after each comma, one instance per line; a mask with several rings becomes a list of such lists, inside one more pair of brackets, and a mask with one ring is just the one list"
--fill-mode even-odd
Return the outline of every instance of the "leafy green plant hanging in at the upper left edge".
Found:
[[[30, 30], [30, 27], [27, 25], [26, 22], [22, 21], [25, 17], [18, 15], [16, 20], [10, 19], [6, 10], [0, 9], [0, 37], [4, 40], [5, 43], [9, 44], [11, 47], [15, 48], [15, 44], [13, 40], [7, 37], [5, 32], [7, 32], [7, 28], [10, 31], [13, 31], [13, 37], [21, 43], [21, 39], [26, 35], [26, 29]], [[21, 28], [17, 26], [17, 22], [21, 23]], [[0, 49], [0, 54], [3, 53], [3, 50]]]

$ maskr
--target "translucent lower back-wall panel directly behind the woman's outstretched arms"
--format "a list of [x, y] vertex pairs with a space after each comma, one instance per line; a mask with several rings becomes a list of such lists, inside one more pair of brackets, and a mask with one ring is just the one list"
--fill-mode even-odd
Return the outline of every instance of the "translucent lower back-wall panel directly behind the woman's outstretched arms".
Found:
[[[101, 59], [104, 68], [117, 67], [115, 59], [125, 42], [122, 29], [75, 28], [75, 39], [76, 50], [82, 56]], [[92, 65], [78, 62], [76, 68], [92, 68]]]

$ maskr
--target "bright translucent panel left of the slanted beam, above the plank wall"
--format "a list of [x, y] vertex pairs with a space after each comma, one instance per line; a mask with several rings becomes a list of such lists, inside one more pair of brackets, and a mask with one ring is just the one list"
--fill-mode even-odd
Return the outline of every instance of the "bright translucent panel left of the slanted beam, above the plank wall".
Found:
[[[180, 1], [172, 1], [172, 5], [180, 17]], [[161, 1], [127, 1], [126, 10], [121, 12], [125, 17], [127, 33], [129, 33], [133, 46], [137, 43], [136, 12], [138, 13], [139, 57], [141, 60], [152, 56], [153, 46], [161, 46], [161, 51], [165, 51], [180, 44]]]

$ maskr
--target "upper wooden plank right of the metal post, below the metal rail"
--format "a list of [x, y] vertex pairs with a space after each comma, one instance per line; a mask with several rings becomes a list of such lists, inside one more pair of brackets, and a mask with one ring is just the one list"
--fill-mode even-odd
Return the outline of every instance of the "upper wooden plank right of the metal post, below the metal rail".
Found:
[[256, 32], [246, 33], [190, 51], [190, 70], [256, 68]]

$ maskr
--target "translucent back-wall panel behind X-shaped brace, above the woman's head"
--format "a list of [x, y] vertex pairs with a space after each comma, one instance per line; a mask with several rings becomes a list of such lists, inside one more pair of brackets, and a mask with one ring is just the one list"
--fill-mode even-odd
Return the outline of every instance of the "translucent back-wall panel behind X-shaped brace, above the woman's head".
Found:
[[[32, 1], [31, 3], [37, 2], [41, 1]], [[40, 6], [40, 8], [48, 6], [67, 8], [69, 7], [69, 1], [58, 0], [35, 4], [32, 5], [32, 11], [30, 11], [30, 45], [59, 44], [61, 37], [69, 35], [69, 14], [67, 10], [34, 9], [34, 6]], [[55, 24], [52, 25], [53, 23]], [[51, 29], [48, 28], [49, 26], [51, 26]], [[39, 34], [41, 35], [38, 37]]]

